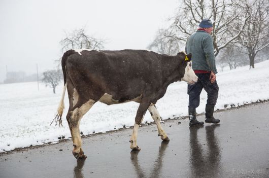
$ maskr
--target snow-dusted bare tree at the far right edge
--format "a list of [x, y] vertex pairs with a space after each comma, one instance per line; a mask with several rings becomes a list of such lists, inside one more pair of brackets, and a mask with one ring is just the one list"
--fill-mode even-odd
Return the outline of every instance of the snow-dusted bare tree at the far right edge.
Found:
[[268, 0], [255, 0], [253, 4], [246, 0], [247, 19], [246, 29], [241, 35], [241, 43], [248, 51], [249, 68], [254, 68], [254, 60], [258, 52], [269, 46], [269, 3]]

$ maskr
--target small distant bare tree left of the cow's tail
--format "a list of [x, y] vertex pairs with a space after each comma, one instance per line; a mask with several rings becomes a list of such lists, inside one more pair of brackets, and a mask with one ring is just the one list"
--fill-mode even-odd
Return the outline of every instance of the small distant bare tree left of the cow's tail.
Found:
[[53, 88], [53, 93], [55, 94], [55, 88], [57, 85], [59, 85], [61, 79], [62, 74], [59, 72], [59, 70], [47, 70], [43, 73], [42, 82], [44, 82], [46, 86]]

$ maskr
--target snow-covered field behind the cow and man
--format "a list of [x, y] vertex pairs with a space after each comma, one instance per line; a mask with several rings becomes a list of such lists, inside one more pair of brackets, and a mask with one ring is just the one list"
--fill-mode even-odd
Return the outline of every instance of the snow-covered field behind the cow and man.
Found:
[[[251, 70], [249, 66], [245, 66], [219, 72], [217, 82], [219, 98], [215, 110], [267, 100], [269, 60], [255, 64], [255, 69]], [[58, 137], [71, 137], [65, 120], [69, 103], [67, 93], [63, 127], [59, 128], [54, 123], [50, 126], [60, 101], [63, 84], [56, 88], [56, 94], [43, 83], [39, 87], [38, 91], [36, 82], [0, 85], [0, 152], [57, 142]], [[207, 94], [203, 91], [197, 113], [204, 112], [206, 100]], [[97, 102], [81, 120], [80, 130], [87, 135], [132, 126], [138, 105], [136, 102], [129, 102], [108, 106]], [[163, 120], [187, 116], [187, 84], [171, 84], [156, 106]], [[153, 122], [148, 112], [143, 123], [145, 122]]]

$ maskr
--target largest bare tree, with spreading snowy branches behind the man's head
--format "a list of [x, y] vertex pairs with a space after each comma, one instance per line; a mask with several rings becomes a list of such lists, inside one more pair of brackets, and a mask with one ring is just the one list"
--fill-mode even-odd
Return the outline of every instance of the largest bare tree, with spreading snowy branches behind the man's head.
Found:
[[[242, 1], [242, 0], [240, 0]], [[167, 29], [165, 37], [177, 42], [186, 42], [194, 33], [201, 20], [213, 21], [213, 45], [215, 56], [242, 33], [249, 16], [242, 14], [241, 2], [233, 0], [183, 0], [178, 14], [171, 18], [172, 25]], [[240, 23], [240, 28], [233, 28]], [[238, 26], [238, 25], [237, 25]]]

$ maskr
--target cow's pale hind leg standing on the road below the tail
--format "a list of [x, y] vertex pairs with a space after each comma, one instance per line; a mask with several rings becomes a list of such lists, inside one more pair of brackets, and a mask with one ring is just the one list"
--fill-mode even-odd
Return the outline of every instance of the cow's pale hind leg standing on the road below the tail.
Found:
[[86, 155], [84, 155], [84, 152], [81, 148], [82, 146], [82, 140], [80, 136], [80, 120], [85, 115], [92, 105], [94, 104], [94, 100], [89, 99], [88, 101], [82, 101], [80, 98], [78, 99], [78, 102], [74, 105], [73, 109], [68, 112], [68, 115], [66, 116], [66, 119], [69, 124], [69, 128], [72, 135], [73, 140], [73, 155], [75, 158], [86, 158]]

